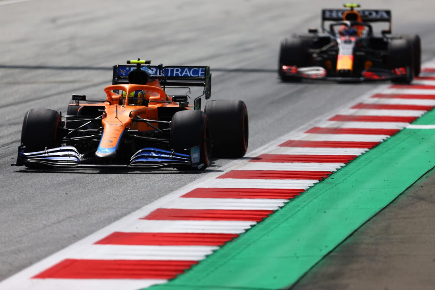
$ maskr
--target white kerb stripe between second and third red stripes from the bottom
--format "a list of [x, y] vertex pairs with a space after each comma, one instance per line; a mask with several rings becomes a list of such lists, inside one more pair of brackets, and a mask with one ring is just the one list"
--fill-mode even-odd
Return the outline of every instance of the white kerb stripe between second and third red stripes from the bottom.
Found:
[[243, 233], [256, 222], [238, 220], [135, 220], [120, 232], [130, 233]]

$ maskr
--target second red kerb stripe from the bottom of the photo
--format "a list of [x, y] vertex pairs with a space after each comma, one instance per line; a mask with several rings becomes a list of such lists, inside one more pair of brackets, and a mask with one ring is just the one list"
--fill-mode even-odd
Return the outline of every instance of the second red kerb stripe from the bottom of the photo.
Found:
[[124, 233], [114, 232], [96, 244], [140, 246], [221, 246], [234, 233]]

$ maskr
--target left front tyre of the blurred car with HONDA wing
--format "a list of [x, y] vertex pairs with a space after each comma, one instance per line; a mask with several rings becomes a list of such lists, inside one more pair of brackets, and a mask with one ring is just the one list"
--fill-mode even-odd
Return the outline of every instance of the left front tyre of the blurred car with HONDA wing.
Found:
[[298, 82], [301, 77], [289, 77], [284, 75], [282, 66], [306, 66], [308, 40], [304, 38], [285, 38], [281, 40], [281, 46], [278, 57], [278, 76], [283, 81]]

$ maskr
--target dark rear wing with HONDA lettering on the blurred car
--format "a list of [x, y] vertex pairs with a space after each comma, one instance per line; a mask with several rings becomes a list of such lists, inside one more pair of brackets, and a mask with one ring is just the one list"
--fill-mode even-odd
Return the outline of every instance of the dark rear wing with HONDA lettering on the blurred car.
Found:
[[[349, 11], [348, 9], [322, 9], [321, 27], [325, 31], [325, 21], [343, 21], [343, 13]], [[373, 10], [361, 9], [356, 10], [361, 15], [363, 22], [388, 22], [391, 30], [391, 10]]]

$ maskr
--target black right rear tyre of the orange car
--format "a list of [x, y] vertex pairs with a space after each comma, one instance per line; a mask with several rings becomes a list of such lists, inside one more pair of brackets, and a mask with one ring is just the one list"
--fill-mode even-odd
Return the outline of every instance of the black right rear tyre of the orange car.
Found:
[[248, 150], [248, 109], [241, 100], [211, 100], [204, 108], [210, 120], [213, 156], [243, 157]]

